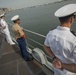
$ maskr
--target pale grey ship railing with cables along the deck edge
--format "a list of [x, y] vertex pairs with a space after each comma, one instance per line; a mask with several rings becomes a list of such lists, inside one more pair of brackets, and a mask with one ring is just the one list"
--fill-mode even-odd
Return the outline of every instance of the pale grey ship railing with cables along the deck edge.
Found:
[[[11, 24], [11, 23], [8, 23], [8, 24], [9, 24], [11, 27], [13, 26], [13, 24]], [[28, 33], [30, 33], [30, 34], [36, 35], [36, 36], [38, 36], [38, 37], [41, 37], [41, 38], [46, 38], [45, 35], [42, 35], [42, 34], [40, 34], [40, 33], [31, 31], [31, 30], [28, 30], [28, 29], [24, 29], [24, 31], [25, 31], [25, 32], [28, 32]], [[15, 36], [14, 36], [14, 34], [13, 34], [12, 32], [11, 32], [11, 36], [12, 36], [12, 39], [16, 42]], [[35, 43], [35, 44], [37, 44], [37, 45], [40, 45], [41, 47], [44, 46], [42, 43], [40, 43], [40, 42], [38, 42], [38, 41], [36, 41], [36, 40], [28, 37], [28, 35], [27, 35], [27, 39], [30, 40], [30, 41], [32, 41], [33, 43]], [[27, 41], [27, 40], [26, 40], [26, 41]], [[16, 42], [16, 43], [17, 43], [17, 42]], [[32, 46], [30, 43], [28, 43], [28, 42], [27, 42], [27, 45], [28, 45], [29, 53], [34, 52], [33, 55], [35, 55], [35, 56], [38, 56], [38, 54], [39, 54], [40, 58], [39, 58], [38, 61], [41, 62], [41, 64], [46, 65], [50, 70], [53, 71], [52, 63], [49, 61], [49, 60], [52, 60], [52, 58], [51, 58], [50, 56], [48, 56], [47, 54], [45, 54], [44, 51], [41, 50], [40, 48], [36, 48], [36, 47]], [[31, 49], [30, 47], [31, 47], [32, 49]], [[38, 53], [38, 54], [37, 54], [37, 53]], [[36, 58], [35, 56], [34, 56], [34, 58], [37, 60], [38, 57]], [[48, 60], [48, 59], [49, 59], [49, 60]]]

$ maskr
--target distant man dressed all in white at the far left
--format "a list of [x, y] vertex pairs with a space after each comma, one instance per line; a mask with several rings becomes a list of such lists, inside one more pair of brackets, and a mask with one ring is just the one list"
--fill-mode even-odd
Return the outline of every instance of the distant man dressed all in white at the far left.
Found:
[[0, 23], [1, 23], [1, 27], [2, 27], [2, 32], [5, 34], [7, 42], [10, 45], [14, 45], [15, 43], [11, 39], [10, 32], [8, 29], [8, 24], [5, 21], [5, 15], [4, 14], [0, 15], [0, 18], [1, 18]]

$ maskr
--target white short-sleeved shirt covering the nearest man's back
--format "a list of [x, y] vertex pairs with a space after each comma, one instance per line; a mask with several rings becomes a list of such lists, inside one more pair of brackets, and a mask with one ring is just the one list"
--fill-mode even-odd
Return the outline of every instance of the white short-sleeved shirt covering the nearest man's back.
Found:
[[[76, 46], [76, 37], [70, 32], [67, 27], [58, 26], [56, 29], [47, 34], [45, 45], [50, 47], [52, 52], [63, 63], [76, 63], [74, 49]], [[75, 73], [67, 70], [61, 71], [55, 68], [61, 75], [75, 75]], [[67, 74], [68, 73], [68, 74]]]

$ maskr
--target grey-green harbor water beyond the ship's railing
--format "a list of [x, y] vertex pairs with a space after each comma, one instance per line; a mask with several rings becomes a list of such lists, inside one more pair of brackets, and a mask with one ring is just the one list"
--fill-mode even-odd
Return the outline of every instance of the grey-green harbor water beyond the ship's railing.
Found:
[[[30, 7], [25, 9], [20, 9], [17, 11], [10, 12], [6, 15], [6, 20], [9, 23], [11, 22], [11, 17], [14, 15], [20, 15], [21, 19], [21, 26], [25, 29], [40, 33], [42, 35], [46, 35], [50, 30], [56, 28], [60, 25], [58, 18], [54, 16], [54, 12], [63, 5], [76, 3], [76, 0], [63, 0], [61, 2], [51, 3], [48, 5], [41, 5], [36, 7]], [[67, 12], [67, 11], [66, 11]], [[10, 31], [11, 27], [9, 26]], [[71, 30], [76, 32], [76, 21], [71, 27]], [[34, 34], [30, 34], [25, 32], [27, 37], [38, 41], [39, 43], [43, 44], [45, 38], [36, 36]], [[43, 49], [42, 46], [33, 43], [29, 39], [27, 39], [28, 43], [30, 43], [34, 47], [39, 47]]]

